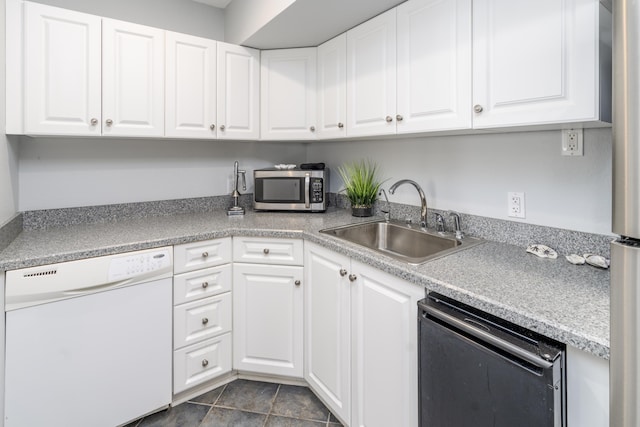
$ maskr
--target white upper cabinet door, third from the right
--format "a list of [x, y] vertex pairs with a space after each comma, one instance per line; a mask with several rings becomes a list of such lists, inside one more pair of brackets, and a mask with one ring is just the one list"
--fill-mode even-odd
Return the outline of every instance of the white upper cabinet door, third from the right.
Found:
[[347, 135], [396, 133], [396, 10], [347, 32]]

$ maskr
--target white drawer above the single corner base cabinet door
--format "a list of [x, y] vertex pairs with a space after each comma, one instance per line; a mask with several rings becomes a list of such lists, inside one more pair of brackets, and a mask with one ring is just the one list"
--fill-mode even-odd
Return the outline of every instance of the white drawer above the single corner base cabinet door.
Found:
[[302, 258], [302, 239], [233, 238], [233, 260], [235, 262], [302, 265]]

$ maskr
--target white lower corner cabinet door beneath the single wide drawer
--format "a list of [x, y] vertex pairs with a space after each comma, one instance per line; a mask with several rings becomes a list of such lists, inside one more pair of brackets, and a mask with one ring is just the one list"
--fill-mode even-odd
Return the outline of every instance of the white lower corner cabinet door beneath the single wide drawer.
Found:
[[233, 367], [302, 378], [302, 267], [233, 266]]

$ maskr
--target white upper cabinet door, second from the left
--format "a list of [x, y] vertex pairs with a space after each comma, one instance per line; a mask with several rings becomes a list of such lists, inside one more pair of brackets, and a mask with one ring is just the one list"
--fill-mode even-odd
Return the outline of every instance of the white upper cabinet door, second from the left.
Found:
[[164, 31], [102, 21], [103, 135], [164, 135]]

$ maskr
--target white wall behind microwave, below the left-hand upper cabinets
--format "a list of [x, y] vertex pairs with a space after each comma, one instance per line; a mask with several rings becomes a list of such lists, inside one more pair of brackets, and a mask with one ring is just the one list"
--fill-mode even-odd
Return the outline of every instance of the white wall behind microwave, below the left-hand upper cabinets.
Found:
[[235, 160], [250, 193], [253, 169], [305, 157], [290, 143], [22, 137], [19, 209], [225, 195]]

